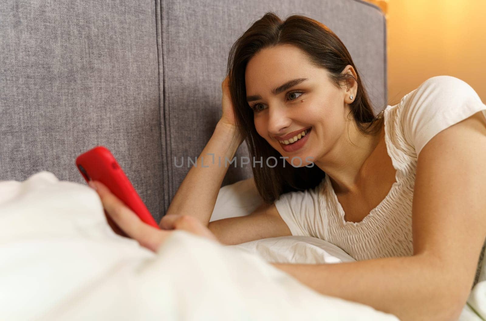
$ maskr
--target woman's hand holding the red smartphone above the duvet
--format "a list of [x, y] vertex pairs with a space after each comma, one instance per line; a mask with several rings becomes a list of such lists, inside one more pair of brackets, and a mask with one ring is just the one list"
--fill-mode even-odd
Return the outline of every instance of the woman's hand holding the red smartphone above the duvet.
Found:
[[171, 235], [169, 230], [184, 230], [217, 241], [216, 236], [199, 220], [188, 215], [164, 216], [158, 230], [140, 220], [117, 196], [101, 182], [91, 180], [88, 185], [96, 190], [104, 207], [108, 224], [121, 236], [133, 238], [139, 244], [154, 252]]

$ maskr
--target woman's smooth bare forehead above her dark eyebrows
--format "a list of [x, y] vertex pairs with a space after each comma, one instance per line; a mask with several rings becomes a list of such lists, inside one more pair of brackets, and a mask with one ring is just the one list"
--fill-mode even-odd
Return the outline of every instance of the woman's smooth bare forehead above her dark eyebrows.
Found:
[[256, 88], [272, 87], [282, 80], [295, 78], [312, 78], [317, 68], [311, 64], [309, 57], [299, 48], [292, 45], [278, 45], [265, 48], [254, 55], [246, 65], [246, 91]]

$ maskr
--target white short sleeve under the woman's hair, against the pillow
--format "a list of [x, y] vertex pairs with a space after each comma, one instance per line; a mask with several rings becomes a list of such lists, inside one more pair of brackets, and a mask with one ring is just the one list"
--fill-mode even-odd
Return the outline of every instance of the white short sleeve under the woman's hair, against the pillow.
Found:
[[[287, 224], [292, 235], [314, 236], [313, 224], [320, 217], [320, 187], [321, 184], [313, 189], [285, 193], [275, 200], [278, 214]], [[317, 224], [322, 225], [323, 222]]]

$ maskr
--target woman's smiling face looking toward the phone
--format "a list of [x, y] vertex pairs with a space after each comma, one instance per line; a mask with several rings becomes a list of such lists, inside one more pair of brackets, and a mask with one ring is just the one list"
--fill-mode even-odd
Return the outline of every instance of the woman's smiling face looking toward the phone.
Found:
[[[307, 80], [272, 92], [294, 79]], [[301, 166], [323, 158], [346, 132], [346, 89], [336, 88], [327, 71], [311, 65], [295, 46], [279, 45], [256, 54], [246, 66], [245, 85], [247, 98], [260, 96], [250, 97], [248, 102], [248, 108], [254, 106], [258, 134], [282, 156], [289, 157], [289, 163], [295, 157], [295, 167], [299, 167], [298, 158]], [[295, 145], [280, 143], [276, 137], [309, 128]]]

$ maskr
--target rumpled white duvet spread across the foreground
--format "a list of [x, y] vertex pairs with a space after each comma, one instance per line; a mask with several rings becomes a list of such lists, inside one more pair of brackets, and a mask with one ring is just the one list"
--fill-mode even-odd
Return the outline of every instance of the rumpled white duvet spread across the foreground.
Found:
[[[153, 253], [111, 231], [87, 185], [46, 171], [0, 181], [0, 320], [398, 320], [265, 262], [352, 260], [323, 242], [225, 247], [175, 231]], [[486, 289], [475, 289], [480, 306]]]

